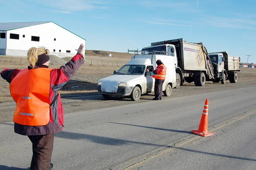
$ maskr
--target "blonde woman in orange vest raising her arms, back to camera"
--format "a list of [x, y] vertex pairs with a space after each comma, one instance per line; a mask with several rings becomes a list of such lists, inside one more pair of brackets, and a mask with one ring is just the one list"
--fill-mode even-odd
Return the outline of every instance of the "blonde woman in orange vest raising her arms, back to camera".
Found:
[[17, 103], [13, 116], [14, 131], [27, 135], [32, 142], [30, 170], [51, 170], [54, 133], [64, 127], [64, 112], [58, 90], [84, 63], [84, 45], [59, 69], [49, 68], [49, 50], [28, 50], [27, 69], [4, 69], [1, 77], [10, 83], [10, 93]]

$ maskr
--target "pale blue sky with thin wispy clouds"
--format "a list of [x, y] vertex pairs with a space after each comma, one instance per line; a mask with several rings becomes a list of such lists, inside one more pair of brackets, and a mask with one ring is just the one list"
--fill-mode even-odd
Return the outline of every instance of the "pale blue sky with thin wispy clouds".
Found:
[[256, 63], [256, 0], [0, 0], [0, 6], [1, 23], [53, 21], [86, 39], [86, 49], [127, 52], [183, 37]]

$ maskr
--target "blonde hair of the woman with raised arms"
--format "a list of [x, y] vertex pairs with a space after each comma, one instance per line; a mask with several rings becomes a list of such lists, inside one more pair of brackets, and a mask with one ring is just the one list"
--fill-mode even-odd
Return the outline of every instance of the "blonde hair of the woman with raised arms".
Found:
[[49, 49], [46, 49], [45, 47], [39, 47], [39, 48], [31, 47], [27, 53], [27, 60], [29, 62], [29, 65], [31, 65], [34, 68], [35, 64], [38, 61], [38, 55], [41, 55], [44, 53], [46, 55], [49, 55], [50, 53]]

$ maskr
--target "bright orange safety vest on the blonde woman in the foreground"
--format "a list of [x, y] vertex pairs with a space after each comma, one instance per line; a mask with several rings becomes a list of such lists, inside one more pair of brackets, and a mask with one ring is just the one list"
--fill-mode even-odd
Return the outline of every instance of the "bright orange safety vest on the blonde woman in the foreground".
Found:
[[50, 120], [50, 71], [48, 68], [23, 69], [10, 84], [16, 102], [13, 121], [27, 126], [44, 126]]

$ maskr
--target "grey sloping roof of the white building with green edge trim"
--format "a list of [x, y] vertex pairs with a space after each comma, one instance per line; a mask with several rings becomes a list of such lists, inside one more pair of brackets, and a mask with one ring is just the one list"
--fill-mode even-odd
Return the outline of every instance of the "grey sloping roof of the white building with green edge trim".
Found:
[[[0, 31], [9, 31], [12, 29], [20, 29], [23, 27], [35, 26], [35, 25], [40, 25], [40, 24], [44, 24], [44, 23], [54, 23], [54, 22], [45, 21], [45, 22], [24, 22], [24, 23], [0, 23]], [[56, 24], [56, 25], [58, 25], [58, 24]], [[58, 26], [60, 26], [60, 25], [58, 25]], [[63, 28], [62, 26], [60, 26], [60, 27]], [[65, 28], [63, 28], [63, 29], [65, 29]], [[69, 30], [67, 30], [67, 31], [69, 31]], [[71, 31], [69, 31], [69, 32], [71, 32]], [[73, 32], [71, 32], [71, 33], [76, 35]], [[76, 35], [76, 36], [80, 37], [79, 35]], [[82, 37], [80, 37], [80, 38], [82, 38]], [[82, 38], [82, 39], [84, 39], [84, 38]], [[84, 39], [84, 40], [86, 40], [86, 39]]]

